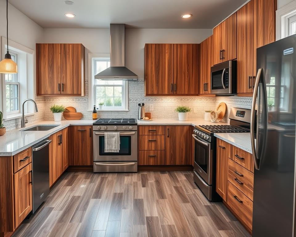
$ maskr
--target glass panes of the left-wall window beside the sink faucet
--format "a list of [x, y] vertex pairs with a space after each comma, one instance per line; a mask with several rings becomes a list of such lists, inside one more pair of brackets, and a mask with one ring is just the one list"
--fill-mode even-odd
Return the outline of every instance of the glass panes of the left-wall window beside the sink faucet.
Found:
[[[11, 52], [11, 59], [18, 63], [18, 55]], [[19, 80], [18, 74], [5, 74], [6, 114], [19, 113]]]

